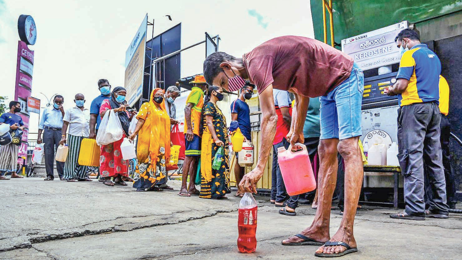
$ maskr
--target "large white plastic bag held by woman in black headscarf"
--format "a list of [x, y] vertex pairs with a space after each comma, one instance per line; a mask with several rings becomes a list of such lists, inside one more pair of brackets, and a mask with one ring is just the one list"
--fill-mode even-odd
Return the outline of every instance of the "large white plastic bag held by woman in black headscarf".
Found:
[[96, 136], [97, 145], [107, 145], [122, 139], [123, 130], [119, 116], [113, 109], [106, 111], [99, 124]]

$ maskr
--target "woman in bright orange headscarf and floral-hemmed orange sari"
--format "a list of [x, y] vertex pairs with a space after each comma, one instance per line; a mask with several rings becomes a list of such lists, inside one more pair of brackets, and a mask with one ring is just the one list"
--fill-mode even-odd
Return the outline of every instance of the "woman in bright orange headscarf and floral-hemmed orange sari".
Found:
[[167, 178], [165, 165], [170, 160], [170, 117], [165, 109], [164, 90], [155, 88], [136, 118], [136, 128], [128, 137], [134, 140], [139, 134], [133, 187], [138, 192], [160, 191], [157, 184]]

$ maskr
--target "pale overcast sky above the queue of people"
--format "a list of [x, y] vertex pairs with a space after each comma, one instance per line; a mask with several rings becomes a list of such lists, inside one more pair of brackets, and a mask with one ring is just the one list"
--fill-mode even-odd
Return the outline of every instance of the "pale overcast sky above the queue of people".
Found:
[[[79, 92], [89, 107], [100, 78], [124, 85], [125, 51], [146, 13], [156, 20], [155, 35], [181, 22], [182, 48], [204, 40], [207, 31], [220, 35], [220, 51], [239, 57], [273, 37], [314, 37], [309, 0], [0, 0], [0, 95], [14, 97], [20, 14], [31, 15], [37, 28], [29, 46], [32, 96], [59, 93], [68, 108]], [[202, 73], [204, 56], [205, 44], [182, 52], [181, 76]], [[32, 114], [30, 132], [37, 120]]]

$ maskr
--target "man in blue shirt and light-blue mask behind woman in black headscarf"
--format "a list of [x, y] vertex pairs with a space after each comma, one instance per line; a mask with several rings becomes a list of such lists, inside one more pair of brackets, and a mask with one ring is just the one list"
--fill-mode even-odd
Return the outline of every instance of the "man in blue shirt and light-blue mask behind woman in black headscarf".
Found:
[[95, 139], [98, 133], [99, 123], [101, 123], [101, 117], [99, 116], [99, 108], [104, 99], [111, 97], [111, 85], [106, 79], [98, 80], [98, 90], [101, 95], [97, 96], [90, 105], [90, 136], [89, 138]]

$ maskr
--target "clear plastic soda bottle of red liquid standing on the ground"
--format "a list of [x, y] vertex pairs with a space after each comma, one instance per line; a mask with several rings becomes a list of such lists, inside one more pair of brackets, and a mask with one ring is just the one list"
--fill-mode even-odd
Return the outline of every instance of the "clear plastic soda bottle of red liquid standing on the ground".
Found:
[[257, 230], [257, 202], [252, 193], [245, 192], [239, 202], [237, 229], [237, 248], [241, 253], [253, 253], [257, 248], [255, 233]]

